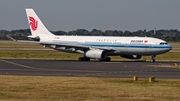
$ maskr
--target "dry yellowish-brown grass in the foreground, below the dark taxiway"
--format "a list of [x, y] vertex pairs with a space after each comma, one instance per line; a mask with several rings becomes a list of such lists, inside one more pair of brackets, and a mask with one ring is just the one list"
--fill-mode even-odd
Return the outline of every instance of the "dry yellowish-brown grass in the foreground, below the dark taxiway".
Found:
[[180, 80], [0, 76], [0, 101], [179, 101]]

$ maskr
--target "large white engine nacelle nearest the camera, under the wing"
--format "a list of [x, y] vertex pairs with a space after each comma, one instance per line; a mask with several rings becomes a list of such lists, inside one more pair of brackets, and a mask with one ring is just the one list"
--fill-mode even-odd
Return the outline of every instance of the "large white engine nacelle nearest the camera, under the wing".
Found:
[[104, 50], [89, 50], [84, 53], [87, 58], [94, 59], [105, 59], [107, 57], [107, 53]]

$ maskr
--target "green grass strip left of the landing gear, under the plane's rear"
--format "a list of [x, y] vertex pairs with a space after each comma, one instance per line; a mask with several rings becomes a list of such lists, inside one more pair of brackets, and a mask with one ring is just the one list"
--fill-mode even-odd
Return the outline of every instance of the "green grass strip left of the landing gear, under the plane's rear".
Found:
[[0, 58], [77, 60], [82, 54], [70, 54], [56, 50], [0, 50]]

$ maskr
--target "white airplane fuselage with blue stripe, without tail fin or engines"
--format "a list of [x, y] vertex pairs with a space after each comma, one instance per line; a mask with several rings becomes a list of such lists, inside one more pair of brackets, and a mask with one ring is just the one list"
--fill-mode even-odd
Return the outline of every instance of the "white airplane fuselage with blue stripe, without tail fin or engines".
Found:
[[157, 55], [172, 49], [167, 42], [151, 37], [53, 36], [49, 42], [71, 44], [75, 46], [72, 52], [78, 52], [79, 45], [105, 49], [108, 55]]

